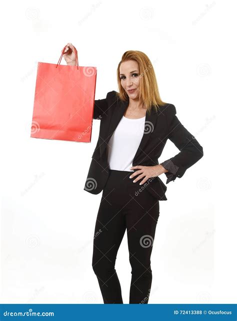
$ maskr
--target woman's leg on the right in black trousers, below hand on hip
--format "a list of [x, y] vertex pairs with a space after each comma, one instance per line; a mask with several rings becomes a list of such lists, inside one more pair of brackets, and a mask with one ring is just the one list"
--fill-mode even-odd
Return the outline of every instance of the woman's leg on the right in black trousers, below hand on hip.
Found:
[[147, 303], [152, 281], [150, 255], [159, 217], [159, 201], [148, 191], [142, 190], [137, 196], [133, 193], [133, 199], [129, 205], [129, 211], [126, 214], [132, 274], [129, 303]]

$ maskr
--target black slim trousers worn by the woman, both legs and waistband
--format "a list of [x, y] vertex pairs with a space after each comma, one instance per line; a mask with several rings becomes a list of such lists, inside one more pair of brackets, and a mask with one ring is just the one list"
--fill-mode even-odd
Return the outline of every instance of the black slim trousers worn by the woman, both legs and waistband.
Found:
[[159, 201], [133, 172], [109, 170], [97, 213], [92, 267], [104, 303], [123, 303], [115, 260], [127, 230], [131, 284], [129, 303], [147, 303], [151, 288], [150, 255], [159, 217]]

